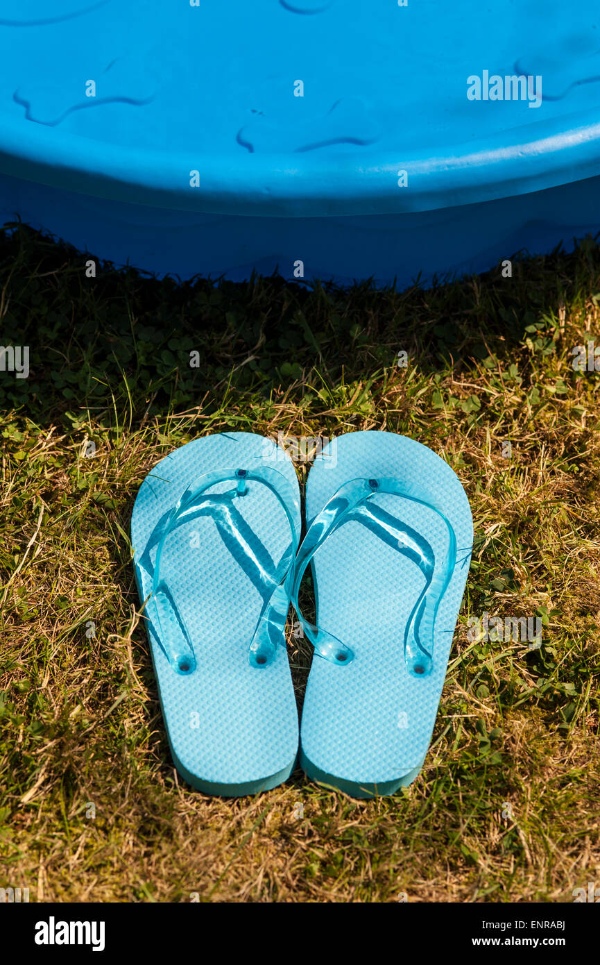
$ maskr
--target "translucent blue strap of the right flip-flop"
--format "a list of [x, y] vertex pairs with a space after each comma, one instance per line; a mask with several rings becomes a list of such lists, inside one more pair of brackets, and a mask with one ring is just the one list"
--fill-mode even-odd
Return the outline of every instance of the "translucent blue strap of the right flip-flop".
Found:
[[[370, 502], [373, 496], [386, 493], [419, 503], [436, 512], [446, 524], [450, 537], [448, 553], [442, 565], [436, 566], [432, 547], [416, 530], [402, 523], [387, 510]], [[326, 660], [347, 666], [354, 654], [352, 650], [322, 627], [306, 620], [298, 606], [298, 593], [306, 567], [325, 540], [349, 519], [362, 523], [377, 537], [393, 546], [403, 556], [419, 566], [425, 585], [413, 607], [404, 632], [404, 659], [409, 672], [415, 676], [427, 676], [433, 667], [433, 644], [435, 620], [444, 593], [456, 564], [456, 537], [444, 512], [432, 502], [423, 499], [423, 491], [411, 483], [395, 479], [357, 479], [343, 483], [323, 509], [314, 517], [306, 537], [298, 550], [294, 567], [291, 601], [302, 621], [304, 632], [314, 646], [314, 651]]]

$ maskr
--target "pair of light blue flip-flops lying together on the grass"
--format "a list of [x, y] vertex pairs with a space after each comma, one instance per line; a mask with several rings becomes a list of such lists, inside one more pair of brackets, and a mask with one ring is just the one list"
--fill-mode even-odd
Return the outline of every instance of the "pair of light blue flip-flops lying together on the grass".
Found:
[[[205, 436], [138, 493], [135, 572], [177, 770], [228, 797], [306, 774], [355, 797], [423, 765], [465, 588], [473, 522], [450, 466], [391, 432], [342, 435], [309, 473], [272, 440]], [[313, 571], [315, 623], [298, 603]], [[314, 659], [298, 713], [289, 604]], [[299, 741], [300, 737], [300, 741]]]

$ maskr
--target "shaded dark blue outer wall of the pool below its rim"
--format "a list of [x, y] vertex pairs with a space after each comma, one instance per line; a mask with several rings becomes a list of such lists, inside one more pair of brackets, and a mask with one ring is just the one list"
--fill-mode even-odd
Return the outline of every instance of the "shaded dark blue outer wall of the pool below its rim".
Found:
[[[486, 271], [600, 232], [600, 177], [514, 197], [400, 214], [258, 217], [125, 204], [0, 175], [0, 221], [20, 220], [101, 261], [234, 282], [253, 271], [350, 285]], [[298, 262], [301, 262], [299, 264]], [[423, 267], [426, 266], [426, 270]]]

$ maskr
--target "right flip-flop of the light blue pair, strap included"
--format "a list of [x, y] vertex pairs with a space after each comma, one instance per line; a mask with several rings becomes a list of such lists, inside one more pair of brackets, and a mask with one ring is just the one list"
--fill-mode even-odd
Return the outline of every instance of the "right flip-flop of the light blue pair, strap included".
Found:
[[[423, 765], [469, 571], [473, 521], [450, 466], [391, 432], [316, 456], [292, 602], [314, 646], [300, 761], [354, 797], [393, 794]], [[316, 625], [298, 591], [313, 569]]]

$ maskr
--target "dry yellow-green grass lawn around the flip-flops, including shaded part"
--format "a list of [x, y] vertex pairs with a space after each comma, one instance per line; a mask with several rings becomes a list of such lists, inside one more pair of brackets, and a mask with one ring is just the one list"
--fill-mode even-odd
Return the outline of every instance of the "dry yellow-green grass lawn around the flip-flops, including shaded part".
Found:
[[[600, 248], [427, 291], [211, 288], [88, 279], [17, 227], [0, 235], [0, 317], [2, 344], [31, 351], [28, 379], [0, 372], [0, 886], [563, 902], [600, 878], [600, 381], [572, 367], [575, 345], [600, 345]], [[129, 518], [162, 455], [233, 428], [401, 432], [465, 485], [476, 538], [449, 674], [423, 772], [393, 798], [296, 772], [227, 801], [177, 777]], [[541, 648], [470, 639], [485, 611], [538, 616]], [[301, 701], [310, 653], [288, 646]]]

